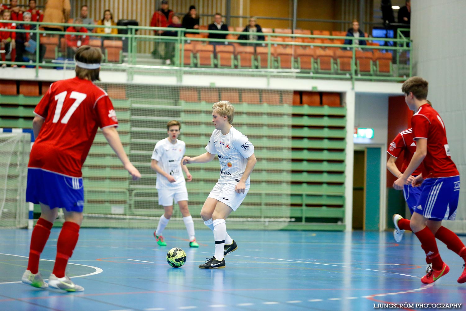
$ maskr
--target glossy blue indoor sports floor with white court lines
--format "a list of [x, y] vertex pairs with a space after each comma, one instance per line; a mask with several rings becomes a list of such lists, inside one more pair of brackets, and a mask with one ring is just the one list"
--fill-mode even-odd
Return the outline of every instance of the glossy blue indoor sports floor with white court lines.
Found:
[[[44, 277], [53, 267], [58, 233], [52, 229], [42, 253]], [[399, 244], [391, 232], [229, 234], [239, 248], [226, 256], [226, 268], [203, 270], [198, 264], [214, 249], [210, 230], [197, 230], [200, 247], [190, 249], [185, 230], [170, 227], [164, 231], [166, 247], [156, 244], [151, 230], [84, 228], [68, 273], [85, 290], [63, 293], [18, 282], [27, 266], [31, 232], [1, 229], [0, 310], [364, 311], [383, 303], [466, 302], [466, 283], [456, 282], [463, 262], [443, 244], [439, 249], [450, 273], [431, 285], [420, 282], [425, 256], [412, 234]], [[165, 261], [172, 247], [187, 253], [182, 268]]]

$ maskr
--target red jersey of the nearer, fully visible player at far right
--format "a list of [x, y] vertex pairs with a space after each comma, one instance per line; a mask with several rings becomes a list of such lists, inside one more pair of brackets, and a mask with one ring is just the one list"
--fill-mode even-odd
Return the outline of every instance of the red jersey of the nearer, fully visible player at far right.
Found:
[[450, 155], [445, 124], [439, 113], [429, 104], [423, 104], [411, 118], [413, 139], [427, 139], [427, 155], [422, 162], [427, 176], [439, 178], [459, 175]]

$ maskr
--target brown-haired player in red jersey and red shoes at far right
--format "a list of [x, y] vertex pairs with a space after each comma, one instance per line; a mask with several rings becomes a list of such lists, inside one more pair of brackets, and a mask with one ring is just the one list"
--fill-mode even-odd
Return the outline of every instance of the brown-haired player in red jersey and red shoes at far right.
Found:
[[[410, 226], [421, 242], [425, 255], [432, 261], [432, 271], [421, 278], [422, 283], [433, 283], [450, 271], [442, 261], [437, 248], [437, 237], [446, 246], [463, 258], [466, 263], [466, 247], [458, 236], [442, 226], [442, 220], [454, 220], [459, 200], [459, 172], [450, 155], [446, 139], [445, 124], [439, 113], [427, 103], [428, 83], [423, 78], [413, 76], [403, 83], [405, 101], [409, 109], [415, 111], [411, 118], [416, 152], [409, 166], [394, 183], [401, 190], [409, 176], [424, 164], [426, 176], [418, 175], [413, 186], [423, 184]], [[406, 222], [406, 219], [400, 219]], [[463, 265], [463, 267], [465, 267]], [[458, 283], [466, 282], [466, 269], [458, 278]]]

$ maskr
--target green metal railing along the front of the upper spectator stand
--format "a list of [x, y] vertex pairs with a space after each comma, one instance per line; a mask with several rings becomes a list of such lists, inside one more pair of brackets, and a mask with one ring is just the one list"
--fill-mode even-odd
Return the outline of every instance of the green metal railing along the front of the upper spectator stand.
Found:
[[[11, 22], [11, 21], [0, 21], [0, 22]], [[16, 32], [16, 33], [34, 33], [36, 37], [43, 36], [43, 35], [82, 35], [82, 33], [71, 33], [66, 31], [45, 31], [39, 29], [40, 26], [61, 26], [65, 29], [69, 26], [75, 27], [87, 27], [87, 28], [103, 28], [101, 25], [77, 25], [77, 24], [62, 24], [62, 23], [41, 23], [41, 22], [21, 22], [17, 24], [30, 24], [36, 25], [36, 29], [34, 30], [24, 30], [24, 29], [2, 29], [2, 31], [6, 32]], [[108, 27], [105, 27], [108, 28]], [[398, 29], [397, 30], [397, 38], [365, 38], [364, 40], [370, 41], [371, 39], [377, 39], [377, 41], [393, 41], [396, 43], [394, 47], [386, 47], [386, 46], [366, 46], [366, 45], [356, 45], [355, 44], [355, 37], [342, 37], [342, 36], [322, 36], [322, 35], [291, 35], [291, 34], [272, 34], [272, 33], [262, 33], [265, 37], [265, 41], [245, 41], [245, 40], [234, 40], [234, 39], [209, 39], [205, 37], [186, 37], [185, 32], [187, 29], [185, 28], [154, 28], [154, 27], [140, 27], [140, 26], [111, 26], [110, 28], [116, 28], [119, 30], [125, 30], [128, 34], [97, 34], [97, 33], [89, 33], [88, 35], [92, 38], [100, 38], [102, 40], [127, 40], [128, 41], [128, 51], [125, 52], [125, 62], [123, 59], [120, 60], [120, 63], [111, 63], [105, 61], [102, 63], [102, 70], [106, 69], [119, 69], [124, 70], [127, 73], [128, 81], [133, 81], [135, 72], [137, 74], [141, 74], [144, 72], [152, 72], [158, 69], [173, 69], [176, 70], [176, 76], [178, 80], [183, 78], [185, 73], [209, 73], [209, 74], [219, 74], [219, 75], [230, 75], [230, 74], [240, 74], [240, 75], [250, 75], [250, 76], [263, 76], [263, 77], [273, 77], [273, 76], [291, 76], [291, 77], [299, 77], [299, 78], [320, 78], [320, 79], [340, 79], [340, 80], [348, 80], [351, 81], [353, 84], [358, 80], [369, 80], [369, 81], [404, 81], [406, 76], [411, 76], [412, 66], [411, 61], [408, 59], [406, 63], [401, 62], [400, 55], [411, 55], [411, 41], [409, 38], [406, 38], [402, 31], [406, 31], [409, 29]], [[146, 30], [146, 31], [172, 31], [176, 32], [176, 36], [164, 36], [164, 35], [141, 35], [137, 34], [139, 30]], [[194, 34], [225, 34], [224, 31], [209, 31], [209, 30], [197, 30], [197, 29], [189, 29], [189, 33]], [[247, 32], [228, 32], [230, 35], [258, 35], [258, 33], [247, 33]], [[351, 40], [352, 44], [344, 45], [344, 44], [329, 44], [329, 43], [302, 43], [302, 42], [294, 42], [294, 41], [271, 41], [274, 37], [288, 37], [288, 38], [295, 38], [295, 39], [349, 39]], [[357, 38], [361, 40], [362, 38]], [[39, 41], [39, 40], [38, 40]], [[167, 45], [174, 45], [174, 57], [173, 57], [173, 64], [170, 67], [167, 66], [157, 66], [148, 64], [147, 59], [141, 57], [144, 53], [138, 53], [138, 43], [144, 41], [151, 41], [151, 42], [163, 42]], [[255, 46], [265, 46], [268, 48], [267, 54], [267, 68], [250, 68], [250, 69], [237, 69], [237, 68], [188, 68], [184, 64], [184, 48], [185, 43], [188, 42], [199, 42], [199, 44], [205, 43], [217, 43], [217, 44], [252, 44]], [[37, 42], [39, 46], [40, 42]], [[272, 57], [272, 47], [273, 46], [288, 46], [294, 48], [349, 48], [352, 51], [352, 62], [351, 62], [351, 70], [349, 72], [341, 73], [337, 72], [336, 66], [331, 71], [332, 72], [319, 72], [317, 70], [302, 70], [299, 68], [292, 68], [292, 69], [281, 69], [278, 68], [277, 62], [274, 61]], [[60, 41], [59, 41], [60, 47]], [[377, 75], [374, 74], [362, 74], [357, 72], [356, 68], [356, 51], [357, 50], [383, 50], [386, 52], [394, 53], [396, 57], [394, 57], [395, 61], [392, 63], [392, 67], [396, 70], [393, 70], [391, 75]], [[148, 54], [148, 53], [145, 53]], [[295, 57], [293, 55], [293, 57]], [[34, 62], [1, 62], [6, 64], [16, 64], [18, 66], [29, 65], [34, 66], [36, 77], [39, 74], [39, 67], [43, 68], [56, 68], [56, 67], [67, 67], [70, 65], [74, 66], [74, 63], [71, 61], [71, 64], [57, 64], [55, 62], [39, 62], [39, 48], [37, 47], [35, 50], [35, 61]], [[66, 57], [64, 57], [66, 58]], [[66, 63], [67, 61], [65, 61]]]

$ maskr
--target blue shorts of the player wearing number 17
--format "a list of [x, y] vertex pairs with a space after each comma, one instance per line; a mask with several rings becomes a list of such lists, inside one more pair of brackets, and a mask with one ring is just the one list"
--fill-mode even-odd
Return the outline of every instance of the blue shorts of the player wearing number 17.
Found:
[[61, 207], [68, 212], [82, 213], [84, 187], [82, 178], [69, 177], [40, 168], [27, 169], [26, 201]]

